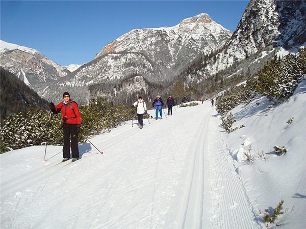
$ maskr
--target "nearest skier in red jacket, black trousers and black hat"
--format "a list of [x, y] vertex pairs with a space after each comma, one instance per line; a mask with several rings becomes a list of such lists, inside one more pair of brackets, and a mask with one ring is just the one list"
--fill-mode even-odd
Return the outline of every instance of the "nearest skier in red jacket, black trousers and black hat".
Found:
[[71, 139], [71, 152], [72, 162], [80, 158], [78, 146], [78, 133], [81, 130], [81, 114], [78, 104], [70, 99], [68, 92], [63, 94], [63, 102], [57, 106], [50, 103], [50, 110], [56, 115], [62, 112], [62, 124], [64, 130], [64, 146], [63, 146], [63, 162], [70, 158], [70, 139]]

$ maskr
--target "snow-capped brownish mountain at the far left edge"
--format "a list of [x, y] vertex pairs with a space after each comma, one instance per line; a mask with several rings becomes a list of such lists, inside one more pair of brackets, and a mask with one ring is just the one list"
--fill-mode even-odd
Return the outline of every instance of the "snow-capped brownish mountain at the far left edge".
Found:
[[0, 65], [17, 75], [25, 84], [57, 80], [69, 71], [49, 60], [36, 49], [0, 40]]

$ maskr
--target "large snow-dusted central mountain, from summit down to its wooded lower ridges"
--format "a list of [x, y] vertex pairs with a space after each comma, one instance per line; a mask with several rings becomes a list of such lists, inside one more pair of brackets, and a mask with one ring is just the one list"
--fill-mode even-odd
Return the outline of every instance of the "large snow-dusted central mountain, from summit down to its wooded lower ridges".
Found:
[[[192, 60], [221, 48], [231, 36], [231, 31], [204, 13], [172, 27], [135, 29], [106, 45], [93, 61], [65, 80], [53, 84], [71, 89], [112, 81], [121, 87], [123, 81], [134, 76], [142, 76], [149, 82], [171, 83]], [[127, 93], [135, 92], [134, 87], [131, 89], [134, 91]], [[43, 94], [42, 90], [41, 95], [53, 96], [46, 91]]]

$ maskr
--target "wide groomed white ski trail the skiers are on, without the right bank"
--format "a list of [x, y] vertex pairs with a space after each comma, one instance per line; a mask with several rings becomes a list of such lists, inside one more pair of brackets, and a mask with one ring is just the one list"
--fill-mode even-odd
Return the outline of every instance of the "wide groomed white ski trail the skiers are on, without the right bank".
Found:
[[90, 137], [104, 154], [86, 142], [68, 165], [59, 146], [47, 162], [45, 146], [2, 154], [1, 227], [260, 228], [210, 102], [143, 122]]

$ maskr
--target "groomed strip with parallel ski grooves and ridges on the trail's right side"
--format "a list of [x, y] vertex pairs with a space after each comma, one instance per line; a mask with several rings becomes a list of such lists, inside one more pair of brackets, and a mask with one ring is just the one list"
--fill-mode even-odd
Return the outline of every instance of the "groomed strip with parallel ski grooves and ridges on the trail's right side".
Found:
[[212, 111], [205, 114], [186, 177], [176, 228], [259, 228], [233, 161], [224, 150], [218, 122]]

